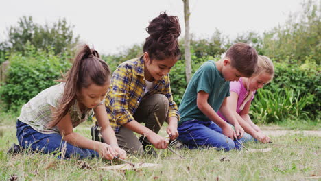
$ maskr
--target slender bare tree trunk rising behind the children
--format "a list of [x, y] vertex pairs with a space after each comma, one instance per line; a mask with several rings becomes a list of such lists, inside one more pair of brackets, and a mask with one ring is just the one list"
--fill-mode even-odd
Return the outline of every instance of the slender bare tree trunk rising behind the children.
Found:
[[191, 80], [191, 36], [189, 34], [189, 0], [182, 0], [184, 3], [184, 20], [185, 20], [185, 37], [184, 37], [184, 47], [185, 47], [185, 73], [186, 82], [189, 83]]

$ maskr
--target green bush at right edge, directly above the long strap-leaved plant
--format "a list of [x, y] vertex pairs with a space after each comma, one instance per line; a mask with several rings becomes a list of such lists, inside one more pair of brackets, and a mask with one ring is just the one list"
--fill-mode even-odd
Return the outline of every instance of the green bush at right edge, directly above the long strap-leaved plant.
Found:
[[303, 99], [305, 95], [313, 97], [313, 102], [305, 106], [303, 110], [309, 112], [310, 119], [315, 120], [320, 114], [320, 66], [311, 58], [307, 58], [305, 63], [300, 66], [295, 60], [289, 61], [292, 63], [274, 63], [274, 79], [271, 84], [263, 89], [276, 94], [281, 93], [281, 90], [285, 88], [289, 88], [294, 90], [294, 97], [298, 97], [298, 99]]

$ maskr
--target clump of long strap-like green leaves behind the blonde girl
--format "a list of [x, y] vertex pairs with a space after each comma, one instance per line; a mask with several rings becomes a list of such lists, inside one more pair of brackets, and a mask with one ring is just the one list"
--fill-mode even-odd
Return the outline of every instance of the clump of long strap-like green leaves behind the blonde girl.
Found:
[[[300, 98], [299, 98], [300, 97]], [[293, 89], [278, 89], [273, 92], [259, 89], [251, 107], [254, 121], [261, 123], [275, 123], [288, 119], [309, 119], [309, 112], [305, 107], [313, 101], [313, 95], [294, 93]]]

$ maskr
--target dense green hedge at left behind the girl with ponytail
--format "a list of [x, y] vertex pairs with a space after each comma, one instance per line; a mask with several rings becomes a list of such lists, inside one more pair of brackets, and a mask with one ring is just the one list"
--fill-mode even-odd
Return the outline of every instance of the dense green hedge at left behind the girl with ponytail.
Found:
[[6, 110], [19, 110], [41, 90], [57, 84], [55, 80], [71, 67], [67, 56], [55, 56], [51, 50], [37, 51], [30, 45], [24, 56], [13, 53], [9, 61], [8, 76], [0, 87]]

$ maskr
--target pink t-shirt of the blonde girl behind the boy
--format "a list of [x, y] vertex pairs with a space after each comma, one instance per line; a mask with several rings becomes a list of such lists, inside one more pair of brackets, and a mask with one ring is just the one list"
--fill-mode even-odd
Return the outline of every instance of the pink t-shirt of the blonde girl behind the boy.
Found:
[[[237, 95], [239, 95], [239, 99], [237, 100], [237, 114], [241, 112], [240, 109], [241, 105], [243, 104], [244, 100], [248, 96], [248, 90], [246, 90], [246, 87], [243, 85], [242, 78], [239, 79], [239, 81], [230, 82], [230, 92], [235, 92]], [[254, 98], [255, 91], [252, 92], [252, 96], [248, 101], [252, 101]], [[221, 112], [217, 112], [219, 117], [222, 117], [222, 119], [225, 119], [225, 117], [221, 114]]]

